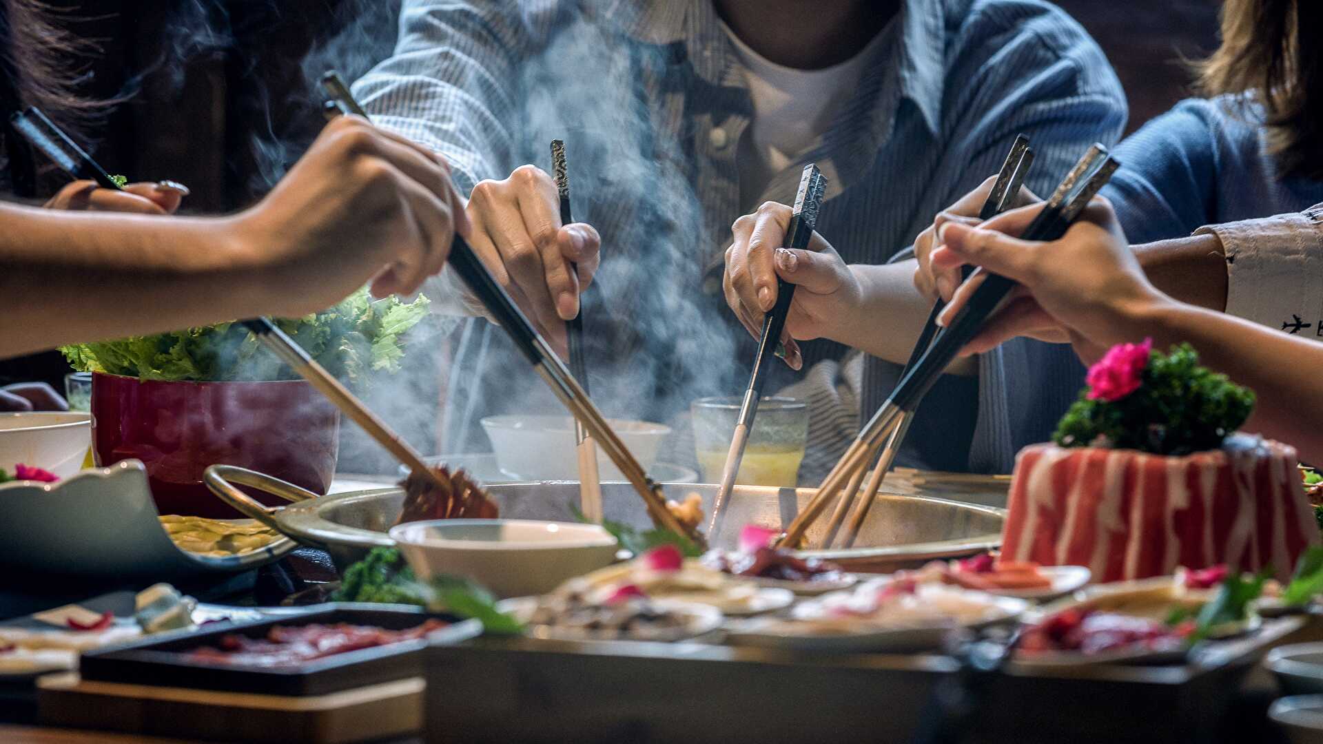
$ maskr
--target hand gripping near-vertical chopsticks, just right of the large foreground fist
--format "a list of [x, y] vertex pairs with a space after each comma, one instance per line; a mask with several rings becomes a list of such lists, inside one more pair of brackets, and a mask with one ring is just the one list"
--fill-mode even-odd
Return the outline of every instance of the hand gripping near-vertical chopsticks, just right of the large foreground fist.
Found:
[[597, 271], [602, 246], [597, 229], [561, 224], [556, 181], [536, 165], [520, 165], [499, 181], [479, 181], [467, 212], [474, 252], [537, 331], [564, 349], [565, 320], [578, 315], [579, 294]]

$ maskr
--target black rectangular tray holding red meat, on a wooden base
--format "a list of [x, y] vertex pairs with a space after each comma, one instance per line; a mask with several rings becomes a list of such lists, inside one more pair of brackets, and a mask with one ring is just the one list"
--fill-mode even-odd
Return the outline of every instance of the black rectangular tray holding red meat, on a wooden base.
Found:
[[349, 622], [377, 625], [392, 630], [414, 628], [427, 618], [442, 618], [451, 626], [433, 633], [435, 645], [455, 643], [482, 634], [476, 620], [427, 613], [402, 605], [331, 602], [312, 605], [307, 612], [263, 620], [217, 624], [214, 630], [149, 635], [140, 642], [82, 655], [79, 673], [85, 682], [110, 682], [171, 688], [221, 690], [262, 695], [327, 695], [341, 690], [422, 675], [422, 651], [427, 639], [405, 641], [335, 654], [295, 667], [258, 667], [197, 662], [187, 651], [214, 646], [222, 635], [239, 633], [250, 638], [265, 635], [273, 625]]

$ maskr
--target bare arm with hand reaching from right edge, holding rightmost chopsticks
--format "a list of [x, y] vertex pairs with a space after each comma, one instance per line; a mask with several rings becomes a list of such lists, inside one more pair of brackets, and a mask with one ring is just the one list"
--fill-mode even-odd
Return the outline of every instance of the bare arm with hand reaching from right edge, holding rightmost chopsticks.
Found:
[[[1086, 363], [1114, 344], [1143, 338], [1160, 348], [1188, 342], [1207, 365], [1254, 389], [1258, 402], [1248, 430], [1290, 442], [1306, 459], [1323, 455], [1323, 432], [1311, 425], [1311, 413], [1323, 413], [1323, 385], [1312, 373], [1323, 364], [1323, 346], [1162, 293], [1144, 277], [1106, 203], [1091, 207], [1089, 220], [1058, 241], [1004, 234], [1023, 230], [1037, 209], [1017, 209], [983, 228], [943, 228], [945, 248], [934, 254], [935, 263], [964, 261], [1021, 285], [964, 353], [991, 348], [1041, 322], [1056, 323]], [[943, 322], [954, 318], [978, 283], [966, 282], [955, 293]]]

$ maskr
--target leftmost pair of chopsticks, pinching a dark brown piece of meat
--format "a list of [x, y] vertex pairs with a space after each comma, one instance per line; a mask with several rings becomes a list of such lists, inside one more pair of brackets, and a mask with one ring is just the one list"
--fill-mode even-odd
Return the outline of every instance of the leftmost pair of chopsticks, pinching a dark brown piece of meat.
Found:
[[[101, 173], [105, 176], [102, 183], [101, 177], [97, 177], [97, 183], [103, 188], [119, 188], [115, 181], [106, 175], [105, 168], [97, 164], [87, 152], [73, 143], [65, 132], [60, 130], [54, 123], [50, 122], [41, 111], [37, 109], [28, 109], [22, 114], [15, 115], [15, 128], [20, 134], [25, 135], [36, 147], [46, 154], [52, 160], [56, 162], [61, 168], [64, 168], [70, 176], [75, 179], [86, 177], [86, 175]], [[107, 185], [108, 184], [108, 185]], [[275, 326], [269, 318], [254, 318], [250, 320], [241, 320], [241, 323], [253, 332], [266, 346], [271, 349], [275, 356], [282, 361], [288, 364], [295, 372], [299, 373], [304, 380], [312, 384], [321, 395], [324, 395], [331, 402], [336, 405], [340, 410], [345, 413], [349, 418], [355, 420], [373, 440], [380, 442], [386, 450], [400, 458], [410, 470], [417, 474], [423, 474], [430, 478], [442, 488], [448, 488], [448, 485], [443, 482], [435, 471], [433, 471], [422, 461], [422, 457], [409, 446], [398, 434], [390, 430], [389, 426], [380, 418], [377, 418], [368, 406], [363, 404], [353, 393], [351, 393], [344, 385], [340, 384], [329, 372], [325, 371], [320, 364], [318, 364], [308, 352], [303, 351], [299, 344], [294, 343], [288, 335]]]

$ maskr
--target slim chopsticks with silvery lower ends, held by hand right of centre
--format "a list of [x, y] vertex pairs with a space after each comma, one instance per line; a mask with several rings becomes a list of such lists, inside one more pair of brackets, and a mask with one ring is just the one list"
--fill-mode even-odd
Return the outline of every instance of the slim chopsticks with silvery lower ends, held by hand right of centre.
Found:
[[[827, 179], [818, 165], [810, 163], [804, 165], [799, 176], [799, 191], [795, 193], [794, 213], [790, 217], [790, 229], [786, 232], [786, 245], [804, 250], [808, 240], [818, 226], [818, 212], [822, 209], [823, 192], [827, 189]], [[736, 430], [730, 436], [730, 450], [726, 453], [726, 465], [721, 469], [721, 486], [717, 488], [716, 499], [712, 502], [712, 520], [708, 534], [716, 535], [725, 518], [726, 502], [736, 485], [736, 475], [740, 473], [740, 462], [744, 459], [745, 447], [749, 445], [749, 433], [753, 430], [753, 420], [758, 414], [758, 402], [762, 400], [762, 388], [767, 381], [763, 373], [771, 363], [773, 351], [781, 343], [781, 331], [786, 327], [786, 316], [790, 315], [790, 303], [795, 298], [795, 285], [777, 277], [777, 303], [767, 311], [762, 320], [762, 338], [758, 339], [758, 353], [753, 361], [753, 371], [749, 373], [749, 385], [745, 388], [744, 402], [740, 405], [740, 416], [736, 418]]]

